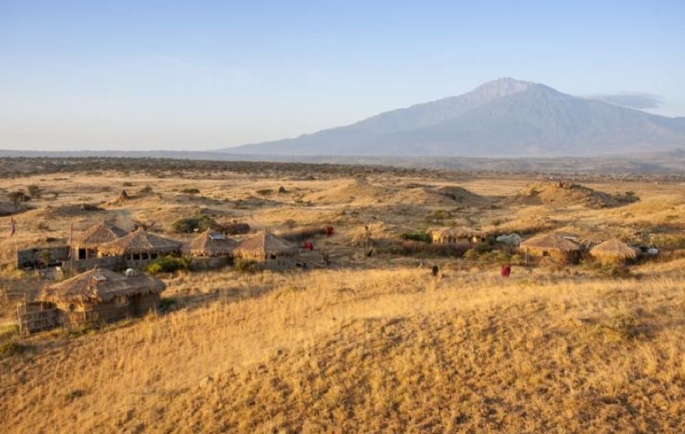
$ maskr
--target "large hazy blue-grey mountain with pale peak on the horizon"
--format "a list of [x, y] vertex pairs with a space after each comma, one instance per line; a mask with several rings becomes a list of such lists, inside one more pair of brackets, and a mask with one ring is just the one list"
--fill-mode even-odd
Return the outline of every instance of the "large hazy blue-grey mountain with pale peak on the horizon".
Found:
[[608, 155], [685, 146], [668, 118], [502, 78], [473, 91], [297, 138], [221, 149], [248, 155], [522, 157]]

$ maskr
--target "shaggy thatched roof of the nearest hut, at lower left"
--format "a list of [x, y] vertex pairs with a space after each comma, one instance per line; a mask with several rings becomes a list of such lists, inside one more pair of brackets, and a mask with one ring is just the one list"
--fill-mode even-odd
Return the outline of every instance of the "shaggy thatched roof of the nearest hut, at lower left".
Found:
[[164, 282], [145, 275], [125, 277], [114, 271], [94, 268], [48, 286], [42, 290], [40, 299], [52, 302], [108, 302], [116, 296], [158, 294], [164, 288]]

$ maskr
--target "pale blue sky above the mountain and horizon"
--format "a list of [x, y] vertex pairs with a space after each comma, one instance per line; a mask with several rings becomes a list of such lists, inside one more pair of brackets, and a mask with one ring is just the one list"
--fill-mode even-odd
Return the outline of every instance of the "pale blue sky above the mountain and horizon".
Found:
[[684, 23], [682, 0], [0, 0], [0, 149], [219, 149], [499, 77], [685, 116]]

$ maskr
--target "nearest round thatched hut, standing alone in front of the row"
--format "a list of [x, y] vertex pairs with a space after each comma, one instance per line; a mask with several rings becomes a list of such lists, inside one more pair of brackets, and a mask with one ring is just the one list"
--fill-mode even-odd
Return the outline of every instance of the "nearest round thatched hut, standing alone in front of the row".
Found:
[[156, 309], [164, 288], [164, 282], [145, 275], [94, 268], [48, 286], [40, 300], [57, 307], [59, 324], [108, 322]]

